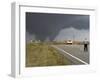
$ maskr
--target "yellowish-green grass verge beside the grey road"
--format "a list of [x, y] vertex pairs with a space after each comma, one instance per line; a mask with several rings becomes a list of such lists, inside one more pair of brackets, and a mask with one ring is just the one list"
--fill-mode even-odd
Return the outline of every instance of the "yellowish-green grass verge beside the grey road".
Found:
[[26, 44], [26, 67], [73, 64], [56, 49], [46, 43]]

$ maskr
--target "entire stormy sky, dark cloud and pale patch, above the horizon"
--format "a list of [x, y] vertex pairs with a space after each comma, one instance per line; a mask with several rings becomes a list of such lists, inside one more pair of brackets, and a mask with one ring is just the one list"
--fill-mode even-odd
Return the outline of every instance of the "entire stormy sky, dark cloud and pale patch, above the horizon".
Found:
[[89, 40], [89, 15], [26, 13], [26, 40]]

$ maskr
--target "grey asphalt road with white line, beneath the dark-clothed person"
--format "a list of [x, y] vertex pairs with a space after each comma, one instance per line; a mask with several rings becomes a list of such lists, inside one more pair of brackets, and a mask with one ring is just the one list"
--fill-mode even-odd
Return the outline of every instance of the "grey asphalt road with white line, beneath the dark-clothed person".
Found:
[[88, 51], [84, 51], [84, 45], [52, 45], [61, 54], [66, 56], [74, 64], [89, 64], [89, 46]]

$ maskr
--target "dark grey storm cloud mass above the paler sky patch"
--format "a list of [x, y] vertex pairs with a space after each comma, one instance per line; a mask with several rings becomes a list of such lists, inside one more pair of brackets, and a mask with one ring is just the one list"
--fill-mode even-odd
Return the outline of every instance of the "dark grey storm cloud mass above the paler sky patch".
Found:
[[[26, 32], [36, 39], [53, 40], [64, 28], [89, 29], [88, 15], [26, 13]], [[67, 35], [67, 34], [66, 34]]]

